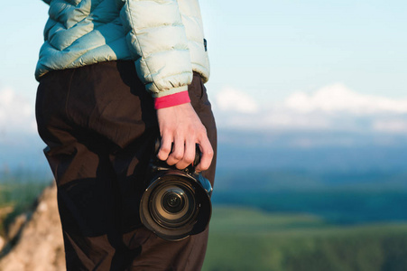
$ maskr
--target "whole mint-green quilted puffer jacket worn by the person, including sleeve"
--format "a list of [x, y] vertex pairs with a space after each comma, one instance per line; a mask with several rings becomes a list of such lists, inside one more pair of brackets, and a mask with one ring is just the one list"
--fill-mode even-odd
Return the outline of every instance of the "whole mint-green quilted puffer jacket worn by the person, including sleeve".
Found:
[[43, 0], [50, 5], [36, 79], [50, 70], [134, 60], [154, 98], [209, 78], [198, 0]]

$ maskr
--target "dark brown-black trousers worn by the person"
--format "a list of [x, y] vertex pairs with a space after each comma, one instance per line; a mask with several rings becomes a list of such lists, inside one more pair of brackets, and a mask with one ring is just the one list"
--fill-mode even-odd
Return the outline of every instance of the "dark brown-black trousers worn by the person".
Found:
[[[198, 74], [189, 93], [216, 151], [215, 121]], [[51, 71], [38, 88], [36, 117], [58, 186], [68, 270], [200, 269], [208, 229], [171, 242], [139, 219], [159, 129], [133, 61]], [[215, 164], [204, 173], [212, 184]]]

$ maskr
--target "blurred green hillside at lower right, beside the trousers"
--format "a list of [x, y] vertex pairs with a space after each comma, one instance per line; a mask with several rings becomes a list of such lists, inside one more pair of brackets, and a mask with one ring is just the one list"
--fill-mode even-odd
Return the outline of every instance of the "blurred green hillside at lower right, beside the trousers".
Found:
[[338, 227], [216, 206], [210, 227], [204, 271], [407, 270], [407, 223]]

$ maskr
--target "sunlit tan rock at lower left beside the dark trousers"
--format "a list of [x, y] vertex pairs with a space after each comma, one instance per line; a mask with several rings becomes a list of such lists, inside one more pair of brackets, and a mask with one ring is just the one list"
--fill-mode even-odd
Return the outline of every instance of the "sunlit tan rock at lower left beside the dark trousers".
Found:
[[66, 270], [55, 186], [44, 190], [32, 215], [17, 217], [13, 225], [9, 237], [15, 237], [4, 248], [0, 270]]

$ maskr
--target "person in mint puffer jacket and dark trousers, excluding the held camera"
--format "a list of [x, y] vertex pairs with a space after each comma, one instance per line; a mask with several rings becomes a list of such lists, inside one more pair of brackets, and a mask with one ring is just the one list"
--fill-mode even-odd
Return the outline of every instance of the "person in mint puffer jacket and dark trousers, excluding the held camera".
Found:
[[[208, 229], [167, 241], [139, 201], [157, 157], [213, 185], [217, 130], [198, 0], [43, 0], [38, 132], [58, 188], [68, 270], [199, 270]], [[146, 91], [147, 90], [147, 91]]]

